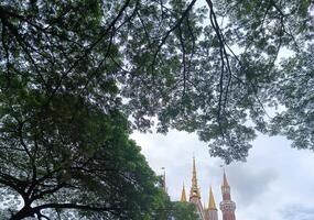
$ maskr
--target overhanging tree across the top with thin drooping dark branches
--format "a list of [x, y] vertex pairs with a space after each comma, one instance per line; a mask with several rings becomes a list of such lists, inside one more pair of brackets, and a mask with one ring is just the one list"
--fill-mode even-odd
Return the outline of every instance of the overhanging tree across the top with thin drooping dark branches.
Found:
[[19, 75], [51, 99], [64, 90], [107, 107], [122, 98], [116, 106], [133, 129], [158, 117], [159, 132], [197, 132], [213, 155], [245, 160], [255, 132], [269, 131], [266, 108], [283, 105], [270, 91], [280, 51], [300, 57], [312, 44], [313, 4], [196, 2], [4, 1], [4, 85]]

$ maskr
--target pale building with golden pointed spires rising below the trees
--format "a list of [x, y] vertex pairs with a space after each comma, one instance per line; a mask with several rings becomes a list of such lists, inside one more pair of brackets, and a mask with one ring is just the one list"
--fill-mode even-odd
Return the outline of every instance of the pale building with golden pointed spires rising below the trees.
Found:
[[[221, 195], [223, 195], [223, 201], [220, 202], [219, 208], [223, 213], [223, 220], [236, 220], [236, 216], [235, 216], [236, 204], [235, 201], [231, 200], [230, 186], [228, 184], [225, 170], [224, 170], [224, 177], [223, 177], [223, 184], [221, 184]], [[181, 193], [181, 201], [194, 204], [196, 206], [196, 210], [199, 215], [201, 220], [218, 220], [218, 209], [216, 207], [212, 187], [209, 189], [208, 207], [205, 207], [202, 205], [201, 193], [197, 186], [195, 158], [193, 158], [193, 173], [192, 173], [192, 186], [191, 186], [191, 191], [190, 191], [190, 199], [187, 201], [186, 194], [185, 194], [185, 187], [183, 185], [182, 193]]]

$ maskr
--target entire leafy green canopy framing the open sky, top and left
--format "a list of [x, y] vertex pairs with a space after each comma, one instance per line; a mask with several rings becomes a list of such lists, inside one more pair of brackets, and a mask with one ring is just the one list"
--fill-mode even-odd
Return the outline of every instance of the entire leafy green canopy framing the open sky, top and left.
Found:
[[256, 132], [314, 148], [311, 0], [3, 0], [0, 21], [12, 219], [69, 199], [88, 218], [156, 213], [164, 199], [131, 130], [196, 132], [227, 163]]

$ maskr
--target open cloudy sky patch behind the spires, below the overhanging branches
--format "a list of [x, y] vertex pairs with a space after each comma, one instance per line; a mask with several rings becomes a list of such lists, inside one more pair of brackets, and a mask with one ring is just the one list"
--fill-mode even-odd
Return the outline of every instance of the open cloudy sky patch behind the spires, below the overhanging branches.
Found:
[[[194, 154], [202, 200], [207, 206], [212, 185], [219, 205], [224, 162], [210, 157], [207, 144], [196, 134], [134, 132], [131, 138], [142, 147], [156, 174], [162, 174], [161, 167], [165, 167], [172, 200], [180, 199], [183, 183], [188, 197]], [[225, 167], [237, 220], [313, 220], [314, 152], [292, 148], [283, 136], [260, 134], [252, 145], [246, 163]], [[223, 220], [220, 211], [219, 220]]]

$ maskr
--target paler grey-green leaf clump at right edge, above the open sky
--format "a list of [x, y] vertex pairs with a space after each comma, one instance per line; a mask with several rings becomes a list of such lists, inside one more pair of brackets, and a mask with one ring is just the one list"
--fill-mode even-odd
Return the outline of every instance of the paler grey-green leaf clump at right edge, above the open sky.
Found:
[[272, 92], [284, 109], [271, 120], [272, 134], [283, 134], [293, 140], [293, 147], [314, 150], [314, 69], [313, 45], [282, 62], [280, 76]]

